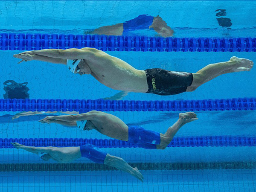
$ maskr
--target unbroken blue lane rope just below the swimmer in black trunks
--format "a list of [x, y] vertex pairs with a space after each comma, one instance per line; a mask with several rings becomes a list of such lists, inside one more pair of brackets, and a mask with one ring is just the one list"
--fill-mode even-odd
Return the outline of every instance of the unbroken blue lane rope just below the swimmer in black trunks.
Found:
[[256, 110], [256, 98], [181, 101], [0, 99], [0, 111], [230, 111]]

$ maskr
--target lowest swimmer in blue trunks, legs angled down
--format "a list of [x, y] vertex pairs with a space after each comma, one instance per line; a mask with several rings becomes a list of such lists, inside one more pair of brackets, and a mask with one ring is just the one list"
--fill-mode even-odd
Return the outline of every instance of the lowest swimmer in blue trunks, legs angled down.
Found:
[[38, 154], [44, 161], [52, 159], [59, 163], [70, 163], [80, 157], [86, 157], [95, 163], [105, 164], [128, 172], [141, 181], [144, 179], [136, 167], [131, 167], [122, 158], [110, 155], [106, 151], [91, 144], [85, 144], [80, 147], [31, 147], [21, 145], [20, 143], [12, 143], [12, 145], [17, 149], [24, 149]]

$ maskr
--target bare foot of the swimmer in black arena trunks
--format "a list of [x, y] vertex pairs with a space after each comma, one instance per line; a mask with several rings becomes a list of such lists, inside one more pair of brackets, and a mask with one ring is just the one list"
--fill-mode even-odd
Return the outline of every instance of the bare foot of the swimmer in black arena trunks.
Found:
[[253, 68], [253, 61], [249, 59], [233, 56], [230, 58], [230, 61], [236, 61], [230, 69], [232, 72], [250, 71]]

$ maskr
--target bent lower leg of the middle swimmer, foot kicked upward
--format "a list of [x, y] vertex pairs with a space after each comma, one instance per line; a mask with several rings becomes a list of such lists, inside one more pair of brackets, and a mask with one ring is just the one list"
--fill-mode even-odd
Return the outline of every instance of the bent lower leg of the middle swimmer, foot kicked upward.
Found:
[[180, 113], [177, 122], [169, 127], [165, 134], [160, 134], [161, 142], [157, 145], [157, 149], [165, 149], [183, 125], [196, 119], [198, 118], [194, 112]]

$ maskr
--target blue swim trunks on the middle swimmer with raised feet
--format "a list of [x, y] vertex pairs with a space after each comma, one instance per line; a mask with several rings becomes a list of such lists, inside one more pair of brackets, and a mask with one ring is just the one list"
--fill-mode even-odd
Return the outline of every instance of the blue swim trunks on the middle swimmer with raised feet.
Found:
[[128, 131], [128, 142], [141, 148], [156, 149], [160, 144], [160, 133], [145, 130], [140, 126], [131, 126]]

